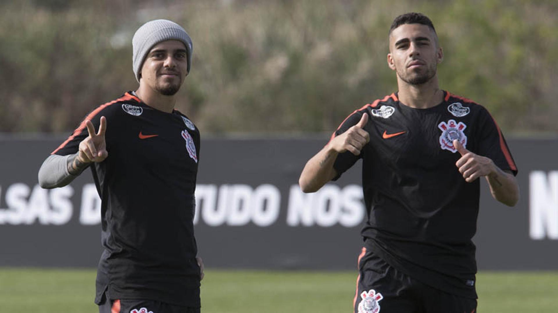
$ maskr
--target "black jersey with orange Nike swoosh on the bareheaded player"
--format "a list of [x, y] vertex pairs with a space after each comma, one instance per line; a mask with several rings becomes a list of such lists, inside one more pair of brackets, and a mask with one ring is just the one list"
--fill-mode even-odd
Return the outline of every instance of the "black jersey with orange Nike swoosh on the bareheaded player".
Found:
[[369, 115], [364, 128], [369, 143], [358, 156], [339, 154], [334, 168], [340, 176], [363, 159], [365, 244], [411, 277], [456, 295], [477, 297], [472, 238], [477, 231], [479, 179], [465, 182], [455, 165], [461, 155], [453, 140], [517, 174], [496, 121], [483, 106], [449, 92], [429, 109], [403, 105], [392, 94], [354, 111], [332, 139], [357, 124], [362, 114]]

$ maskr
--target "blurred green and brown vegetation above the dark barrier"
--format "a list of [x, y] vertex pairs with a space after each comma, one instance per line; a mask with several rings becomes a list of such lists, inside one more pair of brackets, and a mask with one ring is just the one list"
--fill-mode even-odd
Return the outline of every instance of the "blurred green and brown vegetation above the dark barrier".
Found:
[[422, 12], [440, 86], [514, 134], [558, 134], [558, 1], [0, 1], [0, 131], [67, 132], [136, 90], [132, 36], [156, 18], [194, 42], [177, 109], [207, 133], [331, 132], [396, 91], [393, 18]]

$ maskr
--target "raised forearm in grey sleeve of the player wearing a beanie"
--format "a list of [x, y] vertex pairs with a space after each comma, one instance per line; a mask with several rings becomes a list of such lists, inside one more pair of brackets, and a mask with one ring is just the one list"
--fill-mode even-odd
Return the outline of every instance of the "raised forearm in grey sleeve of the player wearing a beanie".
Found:
[[77, 154], [55, 155], [46, 158], [39, 169], [39, 185], [42, 188], [64, 187], [78, 177], [89, 164], [80, 163]]

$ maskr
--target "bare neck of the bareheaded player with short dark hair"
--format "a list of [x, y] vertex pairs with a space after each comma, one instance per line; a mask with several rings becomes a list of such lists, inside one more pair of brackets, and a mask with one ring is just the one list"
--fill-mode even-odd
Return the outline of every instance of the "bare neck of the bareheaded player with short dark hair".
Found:
[[428, 109], [444, 100], [444, 92], [438, 87], [437, 76], [422, 85], [411, 85], [397, 77], [399, 101], [415, 109]]

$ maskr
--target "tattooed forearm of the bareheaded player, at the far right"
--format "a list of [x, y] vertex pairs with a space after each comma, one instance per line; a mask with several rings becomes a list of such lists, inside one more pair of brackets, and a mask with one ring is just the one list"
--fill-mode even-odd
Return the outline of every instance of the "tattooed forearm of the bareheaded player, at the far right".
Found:
[[506, 204], [506, 206], [513, 207], [516, 205], [519, 200], [519, 185], [512, 174], [496, 167], [496, 170], [487, 175], [486, 179], [494, 199]]

